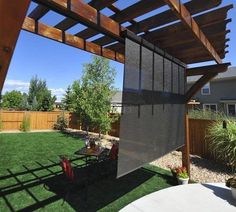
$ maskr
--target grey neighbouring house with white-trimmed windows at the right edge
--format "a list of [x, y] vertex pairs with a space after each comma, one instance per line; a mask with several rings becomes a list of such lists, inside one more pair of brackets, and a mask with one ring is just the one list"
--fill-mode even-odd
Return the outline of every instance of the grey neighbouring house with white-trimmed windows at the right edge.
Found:
[[[199, 77], [188, 77], [188, 87]], [[236, 116], [236, 67], [218, 74], [207, 83], [193, 98], [199, 102], [198, 108], [222, 111]]]

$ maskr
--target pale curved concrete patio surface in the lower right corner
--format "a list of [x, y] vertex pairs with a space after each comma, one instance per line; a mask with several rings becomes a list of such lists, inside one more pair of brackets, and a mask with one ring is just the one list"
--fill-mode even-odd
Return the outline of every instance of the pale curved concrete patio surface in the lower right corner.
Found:
[[236, 212], [236, 200], [223, 183], [173, 186], [146, 195], [121, 212]]

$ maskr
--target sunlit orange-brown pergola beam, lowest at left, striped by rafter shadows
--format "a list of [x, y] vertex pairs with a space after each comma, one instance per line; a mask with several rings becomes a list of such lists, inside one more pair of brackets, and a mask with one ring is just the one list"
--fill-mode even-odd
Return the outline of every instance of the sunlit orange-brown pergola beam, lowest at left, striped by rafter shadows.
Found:
[[87, 52], [118, 61], [120, 63], [124, 63], [124, 55], [118, 52], [109, 50], [107, 48], [102, 48], [95, 43], [87, 42], [82, 38], [66, 33], [55, 27], [51, 27], [41, 22], [35, 21], [32, 18], [25, 18], [22, 29], [58, 41], [60, 43], [67, 44], [69, 46], [73, 46], [75, 48], [85, 50]]

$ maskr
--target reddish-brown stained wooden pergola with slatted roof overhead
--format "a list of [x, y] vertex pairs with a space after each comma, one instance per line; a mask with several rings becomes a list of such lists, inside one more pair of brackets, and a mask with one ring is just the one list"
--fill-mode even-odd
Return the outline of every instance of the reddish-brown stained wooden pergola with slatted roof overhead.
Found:
[[[231, 19], [227, 19], [227, 13], [233, 5], [221, 7], [222, 0], [191, 0], [184, 4], [179, 0], [139, 0], [124, 9], [116, 6], [121, 0], [32, 1], [37, 6], [26, 16], [31, 0], [0, 0], [0, 92], [20, 30], [120, 63], [125, 62], [124, 32], [138, 35], [162, 49], [163, 54], [185, 64], [215, 61], [215, 65], [186, 69], [186, 76], [202, 75], [186, 91], [186, 103], [206, 82], [230, 65], [222, 63], [222, 59], [227, 53], [229, 39], [226, 36], [230, 32], [227, 23]], [[113, 15], [104, 15], [102, 10], [105, 8]], [[41, 19], [50, 11], [64, 19], [54, 26], [43, 23]], [[151, 11], [153, 15], [136, 20]], [[68, 33], [77, 24], [87, 28], [75, 34]], [[183, 161], [189, 167], [187, 130], [186, 133]]]

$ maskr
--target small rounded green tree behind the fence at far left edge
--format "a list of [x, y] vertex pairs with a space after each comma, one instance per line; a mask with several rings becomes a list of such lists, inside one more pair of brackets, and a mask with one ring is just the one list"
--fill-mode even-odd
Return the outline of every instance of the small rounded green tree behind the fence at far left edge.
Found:
[[23, 97], [20, 91], [13, 90], [6, 92], [2, 96], [2, 107], [17, 110], [20, 108], [22, 99]]

